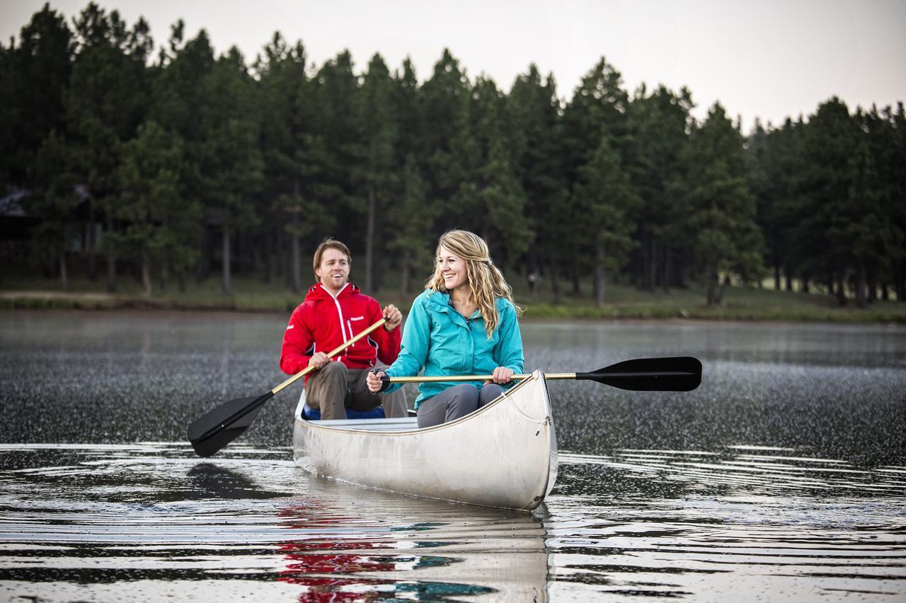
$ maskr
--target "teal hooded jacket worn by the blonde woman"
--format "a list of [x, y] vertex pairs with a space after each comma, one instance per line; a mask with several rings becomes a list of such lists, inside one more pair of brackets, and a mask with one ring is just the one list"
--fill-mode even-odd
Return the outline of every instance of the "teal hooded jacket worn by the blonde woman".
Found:
[[[521, 373], [522, 335], [516, 308], [504, 298], [496, 300], [497, 328], [490, 339], [480, 311], [468, 319], [450, 304], [448, 293], [426, 290], [412, 302], [402, 331], [400, 356], [387, 369], [390, 377], [412, 377], [424, 369], [426, 377], [440, 375], [490, 375], [497, 367]], [[468, 381], [481, 388], [484, 381]], [[458, 382], [422, 383], [415, 407]], [[509, 388], [512, 384], [506, 385]], [[395, 391], [400, 384], [392, 384]]]

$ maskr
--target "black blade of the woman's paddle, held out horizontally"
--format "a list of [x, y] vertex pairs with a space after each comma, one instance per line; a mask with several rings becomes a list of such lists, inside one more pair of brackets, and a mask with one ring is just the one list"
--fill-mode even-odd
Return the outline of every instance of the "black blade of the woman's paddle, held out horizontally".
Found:
[[701, 383], [701, 362], [690, 356], [641, 358], [576, 373], [575, 378], [633, 391], [691, 391]]

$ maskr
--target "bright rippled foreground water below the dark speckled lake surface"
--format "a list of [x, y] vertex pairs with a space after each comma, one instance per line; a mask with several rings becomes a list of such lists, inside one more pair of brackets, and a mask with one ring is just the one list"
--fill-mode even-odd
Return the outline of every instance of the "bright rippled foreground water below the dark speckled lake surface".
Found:
[[222, 600], [906, 593], [900, 466], [751, 446], [564, 452], [553, 495], [525, 514], [313, 478], [285, 449], [225, 452], [0, 445], [0, 594], [109, 600], [123, 583]]

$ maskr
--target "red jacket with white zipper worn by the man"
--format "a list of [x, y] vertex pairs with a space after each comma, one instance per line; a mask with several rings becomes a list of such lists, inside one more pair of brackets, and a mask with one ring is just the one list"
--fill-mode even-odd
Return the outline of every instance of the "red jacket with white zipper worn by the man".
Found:
[[[315, 352], [326, 354], [338, 348], [382, 317], [377, 300], [363, 295], [352, 282], [342, 288], [336, 299], [317, 282], [289, 319], [280, 350], [280, 368], [295, 375], [308, 366]], [[375, 358], [390, 365], [400, 353], [400, 330], [399, 327], [391, 331], [383, 327], [372, 330], [368, 337], [356, 341], [332, 360], [340, 360], [350, 369], [369, 369], [374, 366]]]

